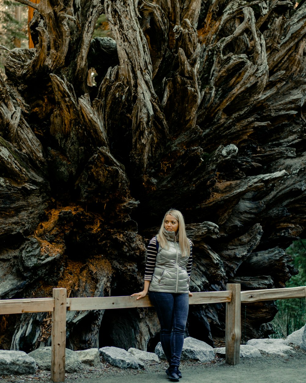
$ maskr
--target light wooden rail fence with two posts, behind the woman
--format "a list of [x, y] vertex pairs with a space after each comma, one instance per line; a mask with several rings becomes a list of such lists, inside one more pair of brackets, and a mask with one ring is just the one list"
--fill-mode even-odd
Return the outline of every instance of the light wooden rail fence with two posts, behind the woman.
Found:
[[[241, 291], [240, 284], [228, 283], [226, 291], [193, 293], [189, 304], [226, 303], [225, 361], [230, 365], [240, 362], [241, 303], [276, 299], [305, 298], [306, 286], [267, 290]], [[65, 288], [53, 289], [52, 298], [0, 300], [0, 314], [52, 312], [51, 380], [65, 381], [66, 311], [119, 309], [152, 306], [148, 296], [67, 298]]]

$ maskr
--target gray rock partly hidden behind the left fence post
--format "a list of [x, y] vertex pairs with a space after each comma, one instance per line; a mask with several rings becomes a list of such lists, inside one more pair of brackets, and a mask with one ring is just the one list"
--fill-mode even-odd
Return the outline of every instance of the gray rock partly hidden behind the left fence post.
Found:
[[[66, 362], [65, 362], [65, 371], [66, 372], [78, 372], [83, 370], [83, 365], [78, 358], [78, 355], [75, 351], [66, 349]], [[34, 358], [37, 367], [40, 370], [51, 370], [51, 347], [39, 347], [38, 349], [29, 352], [31, 357]]]

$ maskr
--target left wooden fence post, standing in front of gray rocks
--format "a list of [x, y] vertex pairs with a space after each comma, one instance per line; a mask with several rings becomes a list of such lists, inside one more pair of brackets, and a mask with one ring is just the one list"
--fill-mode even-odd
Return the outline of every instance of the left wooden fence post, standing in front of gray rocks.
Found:
[[51, 329], [51, 380], [63, 382], [65, 381], [67, 290], [54, 288], [53, 298], [55, 302]]

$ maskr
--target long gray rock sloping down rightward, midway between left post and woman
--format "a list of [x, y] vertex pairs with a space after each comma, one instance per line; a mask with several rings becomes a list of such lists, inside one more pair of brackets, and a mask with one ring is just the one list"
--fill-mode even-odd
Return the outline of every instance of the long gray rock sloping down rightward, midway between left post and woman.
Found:
[[103, 356], [106, 362], [119, 368], [144, 368], [144, 364], [130, 352], [118, 347], [102, 347], [99, 354]]

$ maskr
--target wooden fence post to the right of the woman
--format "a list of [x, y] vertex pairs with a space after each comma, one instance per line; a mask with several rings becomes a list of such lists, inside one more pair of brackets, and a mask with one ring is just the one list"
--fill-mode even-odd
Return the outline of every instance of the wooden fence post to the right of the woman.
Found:
[[226, 303], [225, 362], [233, 366], [240, 363], [241, 286], [239, 283], [228, 283], [226, 290], [232, 291], [232, 299]]

